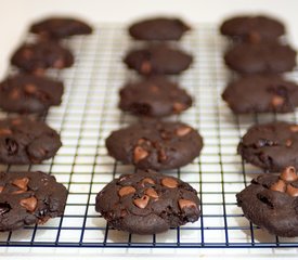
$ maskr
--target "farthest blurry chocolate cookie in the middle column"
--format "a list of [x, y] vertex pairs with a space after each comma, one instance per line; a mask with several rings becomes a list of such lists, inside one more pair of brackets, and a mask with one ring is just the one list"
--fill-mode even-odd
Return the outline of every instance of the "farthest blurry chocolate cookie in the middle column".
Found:
[[131, 25], [129, 34], [137, 40], [179, 40], [189, 29], [179, 18], [155, 17]]

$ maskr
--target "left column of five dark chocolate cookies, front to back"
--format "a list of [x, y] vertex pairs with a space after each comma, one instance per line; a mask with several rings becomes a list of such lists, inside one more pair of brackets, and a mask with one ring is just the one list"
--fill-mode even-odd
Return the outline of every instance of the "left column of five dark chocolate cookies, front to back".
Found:
[[[42, 114], [59, 105], [63, 83], [43, 76], [47, 68], [64, 68], [73, 64], [73, 54], [59, 40], [90, 34], [80, 21], [64, 17], [47, 18], [34, 24], [30, 32], [37, 42], [23, 44], [11, 63], [21, 74], [0, 83], [0, 106], [7, 112]], [[62, 143], [60, 135], [42, 121], [28, 117], [0, 120], [0, 162], [39, 164], [53, 157]], [[43, 172], [0, 173], [0, 231], [44, 223], [62, 216], [67, 190], [54, 177]]]

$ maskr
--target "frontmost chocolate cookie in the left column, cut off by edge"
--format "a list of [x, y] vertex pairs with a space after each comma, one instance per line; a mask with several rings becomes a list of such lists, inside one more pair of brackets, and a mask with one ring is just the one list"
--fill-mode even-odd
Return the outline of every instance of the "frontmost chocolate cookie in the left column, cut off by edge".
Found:
[[43, 172], [0, 172], [0, 231], [62, 216], [67, 190]]

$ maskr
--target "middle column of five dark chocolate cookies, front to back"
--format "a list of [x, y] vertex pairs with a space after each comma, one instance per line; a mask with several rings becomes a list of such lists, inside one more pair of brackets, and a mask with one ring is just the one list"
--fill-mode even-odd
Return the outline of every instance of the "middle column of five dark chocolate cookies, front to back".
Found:
[[119, 107], [143, 117], [141, 122], [106, 139], [111, 156], [139, 169], [113, 180], [96, 196], [96, 211], [116, 230], [155, 234], [199, 218], [197, 192], [177, 178], [154, 171], [191, 162], [203, 146], [202, 136], [190, 126], [154, 119], [180, 114], [192, 105], [186, 91], [165, 77], [186, 69], [192, 57], [160, 43], [180, 39], [186, 29], [180, 20], [164, 17], [142, 21], [129, 29], [138, 40], [159, 42], [133, 50], [124, 60], [129, 68], [150, 77], [120, 90]]

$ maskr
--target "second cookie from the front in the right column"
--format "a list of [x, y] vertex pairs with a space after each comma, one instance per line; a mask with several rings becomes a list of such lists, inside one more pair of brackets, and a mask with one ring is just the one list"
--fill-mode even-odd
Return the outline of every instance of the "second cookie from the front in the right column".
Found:
[[298, 168], [298, 125], [269, 122], [252, 126], [243, 136], [238, 153], [267, 171], [280, 171], [286, 166]]

